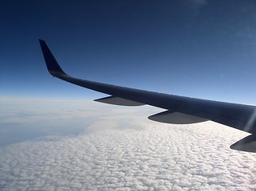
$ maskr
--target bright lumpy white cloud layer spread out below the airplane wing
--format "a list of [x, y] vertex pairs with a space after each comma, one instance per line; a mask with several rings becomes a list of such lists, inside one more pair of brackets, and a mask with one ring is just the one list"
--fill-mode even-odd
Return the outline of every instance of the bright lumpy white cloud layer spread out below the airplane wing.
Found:
[[2, 147], [0, 189], [256, 189], [256, 154], [229, 148], [246, 133], [151, 122], [148, 107], [100, 107], [110, 111], [97, 107], [81, 134]]

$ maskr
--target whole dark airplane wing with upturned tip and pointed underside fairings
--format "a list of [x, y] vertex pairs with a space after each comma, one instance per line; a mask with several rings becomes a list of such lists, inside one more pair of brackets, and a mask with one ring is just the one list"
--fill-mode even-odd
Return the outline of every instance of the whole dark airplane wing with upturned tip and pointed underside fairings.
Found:
[[95, 101], [123, 106], [140, 106], [147, 104], [160, 107], [166, 111], [151, 115], [148, 119], [161, 123], [188, 124], [211, 120], [229, 127], [234, 127], [238, 130], [249, 132], [250, 135], [235, 142], [230, 148], [256, 153], [255, 106], [174, 96], [77, 79], [69, 76], [62, 70], [45, 41], [39, 40], [39, 42], [46, 66], [52, 76], [71, 84], [76, 84], [108, 95], [102, 99], [95, 99]]

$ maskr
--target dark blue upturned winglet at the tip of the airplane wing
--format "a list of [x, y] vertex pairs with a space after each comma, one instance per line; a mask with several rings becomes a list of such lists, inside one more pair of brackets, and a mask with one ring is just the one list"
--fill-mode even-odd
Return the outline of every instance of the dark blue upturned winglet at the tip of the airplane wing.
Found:
[[45, 58], [45, 63], [48, 68], [49, 73], [52, 76], [63, 76], [67, 75], [61, 68], [61, 66], [57, 63], [57, 60], [53, 56], [53, 53], [50, 51], [48, 45], [46, 45], [45, 41], [39, 39], [39, 43], [41, 46], [41, 51]]

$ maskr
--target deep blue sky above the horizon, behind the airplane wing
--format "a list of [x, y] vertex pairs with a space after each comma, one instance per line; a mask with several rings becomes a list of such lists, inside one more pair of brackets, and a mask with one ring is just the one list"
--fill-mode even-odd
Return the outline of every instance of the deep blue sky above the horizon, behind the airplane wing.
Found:
[[38, 38], [71, 76], [256, 103], [256, 2], [1, 1], [0, 96], [98, 98], [53, 79]]

